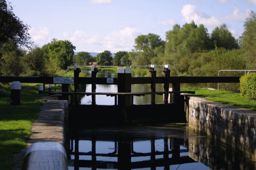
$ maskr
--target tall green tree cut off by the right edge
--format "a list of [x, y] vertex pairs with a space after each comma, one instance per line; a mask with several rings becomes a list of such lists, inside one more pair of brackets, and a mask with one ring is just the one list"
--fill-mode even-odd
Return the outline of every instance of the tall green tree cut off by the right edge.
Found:
[[256, 68], [256, 13], [251, 11], [244, 22], [244, 32], [241, 36], [241, 49], [247, 61], [247, 69]]

